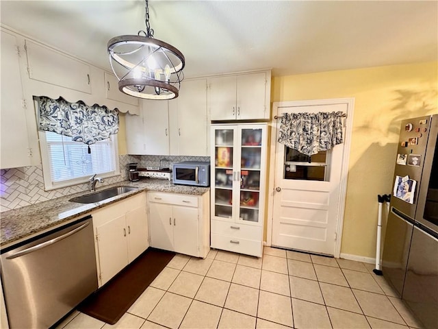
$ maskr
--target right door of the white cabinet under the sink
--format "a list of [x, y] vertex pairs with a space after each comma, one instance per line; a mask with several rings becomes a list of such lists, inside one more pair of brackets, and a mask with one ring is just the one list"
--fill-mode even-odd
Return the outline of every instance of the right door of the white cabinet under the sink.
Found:
[[131, 263], [149, 247], [146, 205], [126, 213], [128, 260]]

